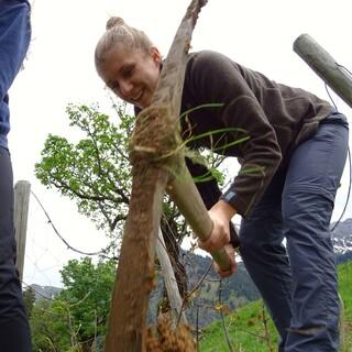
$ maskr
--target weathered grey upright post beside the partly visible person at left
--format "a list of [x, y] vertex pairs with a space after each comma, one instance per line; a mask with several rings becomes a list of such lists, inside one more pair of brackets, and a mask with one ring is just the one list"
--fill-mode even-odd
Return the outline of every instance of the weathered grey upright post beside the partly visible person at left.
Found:
[[31, 184], [19, 180], [14, 186], [14, 229], [16, 240], [16, 266], [20, 280], [23, 278], [26, 224], [29, 218]]

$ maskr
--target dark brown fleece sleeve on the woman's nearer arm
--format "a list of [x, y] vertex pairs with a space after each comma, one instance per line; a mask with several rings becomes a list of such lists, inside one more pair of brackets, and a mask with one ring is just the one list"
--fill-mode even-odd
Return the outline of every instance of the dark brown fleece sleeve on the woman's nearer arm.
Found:
[[226, 128], [241, 129], [249, 135], [249, 140], [239, 145], [241, 168], [221, 196], [246, 218], [280, 164], [276, 133], [239, 65], [213, 52], [201, 52], [190, 65], [188, 79], [197, 102], [223, 103], [215, 118]]

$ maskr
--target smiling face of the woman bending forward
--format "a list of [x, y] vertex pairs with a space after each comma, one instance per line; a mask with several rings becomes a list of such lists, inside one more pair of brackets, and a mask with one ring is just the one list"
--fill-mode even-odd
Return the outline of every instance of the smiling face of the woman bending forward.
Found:
[[144, 109], [156, 89], [162, 56], [156, 47], [148, 53], [116, 45], [106, 55], [98, 73], [122, 100]]

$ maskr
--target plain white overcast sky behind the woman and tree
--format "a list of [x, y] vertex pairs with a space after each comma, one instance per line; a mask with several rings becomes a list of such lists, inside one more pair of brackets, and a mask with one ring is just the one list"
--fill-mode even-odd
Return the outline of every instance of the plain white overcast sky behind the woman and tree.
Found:
[[[75, 205], [46, 190], [34, 177], [34, 164], [48, 133], [70, 139], [65, 107], [69, 102], [109, 99], [94, 66], [94, 50], [110, 15], [144, 30], [166, 56], [189, 0], [35, 0], [32, 44], [25, 69], [10, 90], [12, 130], [9, 135], [14, 180], [26, 179], [57, 230], [82, 251], [107, 241], [77, 213]], [[328, 99], [322, 80], [293, 51], [302, 33], [312, 36], [336, 61], [352, 70], [351, 0], [209, 0], [198, 20], [191, 51], [215, 50], [282, 84], [308, 89]], [[351, 121], [351, 109], [334, 102]], [[346, 199], [348, 168], [333, 219]], [[351, 206], [345, 218], [352, 216]], [[57, 239], [31, 197], [24, 282], [59, 285], [59, 267], [79, 257]]]

